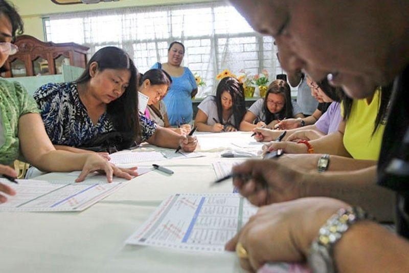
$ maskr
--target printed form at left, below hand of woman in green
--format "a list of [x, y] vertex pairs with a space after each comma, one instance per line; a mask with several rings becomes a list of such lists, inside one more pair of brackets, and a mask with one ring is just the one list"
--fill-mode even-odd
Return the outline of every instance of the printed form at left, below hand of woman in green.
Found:
[[0, 204], [0, 212], [79, 212], [118, 190], [126, 182], [87, 183], [0, 179], [17, 192]]

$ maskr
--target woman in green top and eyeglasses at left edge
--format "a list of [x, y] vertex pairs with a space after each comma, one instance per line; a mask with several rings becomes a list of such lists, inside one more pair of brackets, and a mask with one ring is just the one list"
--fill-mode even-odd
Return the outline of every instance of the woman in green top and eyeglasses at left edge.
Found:
[[[16, 52], [11, 43], [16, 32], [21, 34], [23, 25], [16, 10], [0, 0], [0, 67], [9, 55]], [[10, 165], [17, 158], [48, 172], [82, 170], [77, 182], [84, 180], [91, 171], [102, 170], [108, 182], [112, 175], [131, 179], [136, 168], [121, 169], [97, 154], [75, 154], [56, 151], [44, 129], [37, 103], [18, 82], [0, 79], [0, 175], [15, 178]], [[0, 203], [6, 202], [3, 193], [15, 195], [12, 187], [0, 182]]]

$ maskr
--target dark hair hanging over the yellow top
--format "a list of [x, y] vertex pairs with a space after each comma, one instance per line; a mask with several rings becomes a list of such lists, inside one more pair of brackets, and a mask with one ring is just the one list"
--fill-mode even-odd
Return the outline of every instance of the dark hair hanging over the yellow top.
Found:
[[[380, 99], [378, 104], [378, 114], [375, 118], [374, 130], [372, 136], [378, 130], [380, 124], [386, 124], [388, 116], [388, 106], [392, 95], [393, 83], [388, 86], [379, 87]], [[342, 102], [344, 104], [344, 120], [348, 120], [351, 115], [352, 103], [354, 100], [347, 95], [343, 96]]]

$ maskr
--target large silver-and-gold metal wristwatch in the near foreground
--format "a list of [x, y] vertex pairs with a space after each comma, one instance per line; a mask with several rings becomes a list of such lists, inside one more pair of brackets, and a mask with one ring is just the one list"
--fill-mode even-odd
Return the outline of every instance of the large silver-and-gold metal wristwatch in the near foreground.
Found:
[[341, 208], [320, 228], [318, 237], [312, 242], [307, 257], [312, 272], [337, 272], [333, 260], [333, 247], [348, 228], [359, 220], [368, 219], [360, 207]]

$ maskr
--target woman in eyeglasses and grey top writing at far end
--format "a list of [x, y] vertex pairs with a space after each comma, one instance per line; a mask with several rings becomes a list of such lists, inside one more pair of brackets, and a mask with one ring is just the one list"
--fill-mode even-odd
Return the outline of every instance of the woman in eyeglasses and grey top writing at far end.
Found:
[[297, 102], [291, 100], [288, 83], [277, 79], [270, 83], [265, 97], [258, 99], [248, 109], [240, 123], [240, 131], [252, 131], [263, 125], [273, 128], [282, 119], [303, 117]]

